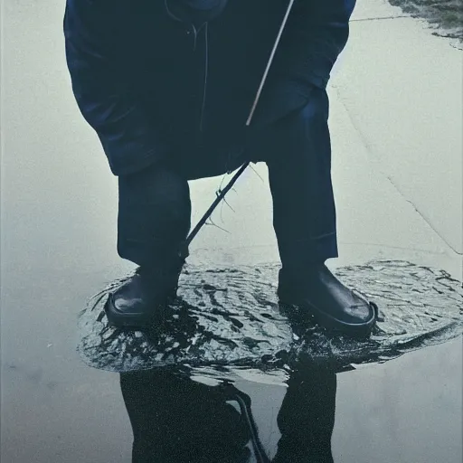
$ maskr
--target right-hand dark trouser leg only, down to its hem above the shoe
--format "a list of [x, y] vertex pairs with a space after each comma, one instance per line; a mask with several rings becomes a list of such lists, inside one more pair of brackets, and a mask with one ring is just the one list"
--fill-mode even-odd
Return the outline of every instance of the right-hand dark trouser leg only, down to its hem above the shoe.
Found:
[[335, 199], [325, 90], [272, 128], [267, 165], [273, 224], [284, 268], [337, 257]]

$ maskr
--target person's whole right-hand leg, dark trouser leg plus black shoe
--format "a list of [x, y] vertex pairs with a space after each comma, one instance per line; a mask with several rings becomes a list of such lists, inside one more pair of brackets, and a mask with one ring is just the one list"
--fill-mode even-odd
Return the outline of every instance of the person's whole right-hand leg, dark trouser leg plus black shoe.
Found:
[[307, 105], [274, 124], [262, 145], [282, 263], [279, 299], [322, 326], [364, 336], [373, 328], [375, 307], [325, 265], [337, 257], [328, 108], [326, 90], [314, 88]]

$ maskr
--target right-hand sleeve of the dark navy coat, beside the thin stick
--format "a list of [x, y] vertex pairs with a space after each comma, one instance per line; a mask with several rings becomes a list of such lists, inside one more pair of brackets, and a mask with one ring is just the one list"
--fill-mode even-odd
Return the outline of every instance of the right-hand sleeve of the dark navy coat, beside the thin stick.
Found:
[[355, 0], [295, 0], [275, 56], [275, 77], [302, 92], [326, 88], [349, 36]]

